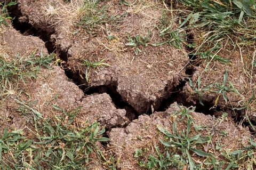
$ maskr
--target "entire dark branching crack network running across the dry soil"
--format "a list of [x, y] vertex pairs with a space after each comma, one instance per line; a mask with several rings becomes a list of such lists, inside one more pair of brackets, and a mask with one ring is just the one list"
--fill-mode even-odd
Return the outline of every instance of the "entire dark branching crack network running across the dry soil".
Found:
[[[61, 67], [65, 70], [66, 76], [73, 80], [73, 82], [83, 90], [85, 95], [93, 94], [93, 93], [107, 93], [111, 100], [114, 102], [116, 108], [119, 109], [125, 109], [126, 110], [126, 116], [132, 121], [134, 119], [137, 119], [138, 116], [140, 115], [135, 109], [126, 101], [122, 99], [122, 96], [117, 92], [117, 83], [112, 83], [109, 85], [102, 85], [102, 86], [86, 86], [84, 84], [84, 79], [81, 78], [79, 75], [79, 72], [73, 72], [70, 69], [68, 69], [68, 54], [67, 51], [61, 51], [60, 49], [57, 48], [57, 46], [54, 44], [54, 42], [51, 41], [51, 35], [55, 33], [54, 27], [47, 27], [47, 29], [41, 29], [41, 28], [36, 28], [34, 27], [29, 21], [25, 22], [20, 22], [19, 17], [22, 16], [21, 12], [18, 9], [18, 5], [12, 6], [9, 9], [10, 11], [10, 16], [13, 19], [12, 25], [13, 27], [20, 31], [21, 34], [23, 35], [31, 35], [31, 36], [36, 36], [42, 39], [45, 42], [45, 47], [47, 48], [49, 53], [55, 53], [57, 54], [58, 58], [65, 61], [65, 64], [61, 64]], [[187, 33], [187, 43], [192, 44], [194, 42], [194, 38], [192, 34]], [[195, 66], [198, 66], [197, 62], [197, 56], [189, 54], [191, 51], [194, 49], [192, 48], [187, 48], [186, 49], [188, 52], [188, 58], [189, 58], [189, 63], [186, 66], [186, 74], [187, 77], [191, 77], [194, 74], [195, 71]], [[221, 111], [228, 112], [233, 118], [234, 122], [239, 123], [242, 120], [241, 117], [241, 112], [243, 110], [235, 112], [229, 108], [213, 108], [212, 102], [206, 102], [203, 101], [204, 106], [199, 104], [199, 100], [196, 101], [196, 104], [194, 103], [188, 103], [185, 99], [187, 96], [185, 94], [181, 93], [183, 90], [183, 87], [185, 86], [186, 82], [188, 79], [186, 78], [185, 80], [182, 80], [179, 82], [179, 85], [174, 88], [172, 92], [169, 92], [170, 95], [167, 96], [167, 98], [162, 98], [161, 102], [159, 104], [159, 107], [156, 108], [154, 111], [165, 111], [170, 104], [177, 102], [178, 104], [181, 104], [182, 106], [185, 107], [190, 107], [190, 106], [195, 106], [196, 107], [196, 112], [201, 112], [205, 115], [214, 115], [214, 116], [221, 116], [219, 113]], [[167, 87], [166, 87], [167, 88]], [[153, 114], [151, 110], [147, 111], [146, 114], [150, 115]], [[255, 122], [252, 122], [253, 125], [255, 125]], [[243, 122], [244, 126], [249, 126], [250, 129], [250, 124]], [[127, 126], [127, 125], [126, 125]], [[251, 131], [252, 133], [255, 133]]]

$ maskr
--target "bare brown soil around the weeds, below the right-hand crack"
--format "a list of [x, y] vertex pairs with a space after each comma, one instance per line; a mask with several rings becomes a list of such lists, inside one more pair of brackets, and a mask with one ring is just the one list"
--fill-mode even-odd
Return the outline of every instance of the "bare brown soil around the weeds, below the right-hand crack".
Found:
[[[141, 115], [125, 128], [111, 129], [109, 132], [111, 143], [108, 147], [119, 159], [117, 167], [121, 169], [143, 169], [138, 166], [138, 160], [134, 157], [135, 151], [148, 148], [149, 151], [146, 154], [154, 153], [154, 147], [159, 145], [159, 139], [164, 139], [163, 134], [157, 130], [157, 126], [164, 127], [172, 132], [173, 122], [180, 118], [177, 116], [180, 111], [181, 109], [177, 106], [177, 103], [174, 103], [164, 112], [155, 112], [150, 116]], [[194, 111], [191, 112], [191, 117], [195, 120], [196, 125], [204, 127], [204, 129], [198, 131], [199, 134], [202, 136], [211, 135], [211, 142], [205, 143], [201, 147], [204, 147], [203, 150], [213, 155], [218, 156], [220, 154], [220, 151], [214, 148], [217, 143], [223, 146], [222, 149], [230, 149], [230, 151], [248, 145], [250, 132], [237, 127], [228, 119], [217, 119]], [[181, 120], [177, 129], [179, 131], [186, 129], [186, 120]], [[190, 132], [190, 136], [194, 136], [198, 132]], [[223, 136], [222, 132], [225, 132], [226, 135]], [[175, 148], [170, 150], [170, 152], [176, 151]], [[194, 156], [195, 160], [204, 161], [202, 158]]]

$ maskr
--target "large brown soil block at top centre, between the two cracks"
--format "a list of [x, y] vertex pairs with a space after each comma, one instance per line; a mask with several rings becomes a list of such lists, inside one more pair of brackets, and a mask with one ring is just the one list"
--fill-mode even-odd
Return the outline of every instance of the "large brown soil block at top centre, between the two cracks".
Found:
[[[55, 28], [52, 41], [68, 56], [68, 67], [79, 72], [81, 76], [78, 77], [83, 77], [79, 80], [81, 84], [115, 85], [123, 100], [136, 111], [147, 112], [151, 108], [157, 109], [186, 76], [184, 68], [188, 58], [185, 50], [172, 43], [154, 45], [169, 41], [159, 35], [157, 28], [165, 10], [162, 2], [127, 1], [131, 5], [126, 6], [116, 1], [103, 1], [96, 3], [91, 11], [86, 6], [90, 5], [89, 2], [57, 1], [55, 4], [58, 5], [51, 7], [52, 14], [47, 13], [49, 2], [40, 2], [42, 6], [38, 3], [20, 2], [21, 13], [27, 15], [31, 23], [38, 21], [45, 25], [52, 19]], [[42, 18], [46, 19], [32, 17], [36, 14], [28, 10], [31, 6], [38, 6], [36, 11], [43, 13]], [[91, 19], [93, 10], [102, 10], [105, 17], [88, 26], [84, 20]], [[72, 20], [69, 19], [70, 13]], [[177, 27], [175, 22], [171, 24], [170, 32]], [[35, 26], [41, 28], [38, 24]], [[98, 67], [90, 66], [97, 62]], [[102, 62], [110, 67], [101, 67]], [[86, 80], [86, 77], [89, 78]]]

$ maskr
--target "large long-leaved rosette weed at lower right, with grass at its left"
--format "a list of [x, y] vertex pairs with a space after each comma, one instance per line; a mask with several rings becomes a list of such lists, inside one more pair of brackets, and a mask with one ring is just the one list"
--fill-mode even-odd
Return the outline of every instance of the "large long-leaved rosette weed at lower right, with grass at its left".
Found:
[[[194, 108], [186, 109], [185, 107], [180, 107], [181, 111], [173, 116], [177, 117], [174, 119], [172, 125], [172, 133], [167, 131], [167, 129], [157, 126], [158, 130], [164, 134], [163, 140], [160, 142], [163, 144], [164, 150], [160, 150], [158, 146], [155, 147], [155, 153], [150, 154], [145, 158], [144, 152], [147, 149], [138, 149], [135, 152], [134, 157], [139, 159], [139, 165], [147, 169], [170, 169], [171, 167], [177, 167], [182, 169], [187, 163], [190, 169], [197, 169], [195, 161], [191, 157], [191, 153], [195, 153], [199, 157], [212, 158], [210, 153], [198, 149], [202, 147], [203, 143], [209, 142], [209, 137], [204, 137], [201, 134], [191, 135], [191, 129], [195, 128], [195, 122], [193, 118], [189, 115], [190, 112], [194, 111]], [[187, 121], [187, 126], [181, 131], [177, 129], [177, 123]]]

